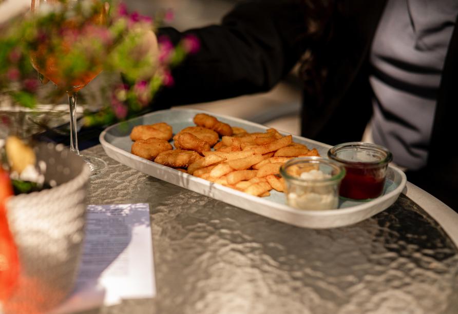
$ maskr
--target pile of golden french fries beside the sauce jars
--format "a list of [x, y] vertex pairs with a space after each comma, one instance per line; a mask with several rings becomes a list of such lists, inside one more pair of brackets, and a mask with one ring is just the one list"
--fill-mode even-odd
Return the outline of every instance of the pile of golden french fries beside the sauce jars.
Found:
[[285, 191], [280, 167], [301, 156], [319, 156], [314, 148], [295, 143], [275, 129], [248, 133], [233, 127], [233, 136], [222, 136], [214, 151], [187, 168], [187, 173], [258, 197], [268, 197], [275, 189]]

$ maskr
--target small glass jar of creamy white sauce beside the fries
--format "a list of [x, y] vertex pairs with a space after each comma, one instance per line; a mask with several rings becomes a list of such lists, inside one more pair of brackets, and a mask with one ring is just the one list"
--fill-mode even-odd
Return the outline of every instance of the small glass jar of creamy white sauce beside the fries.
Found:
[[321, 157], [295, 158], [280, 168], [288, 204], [306, 210], [335, 209], [345, 168]]

